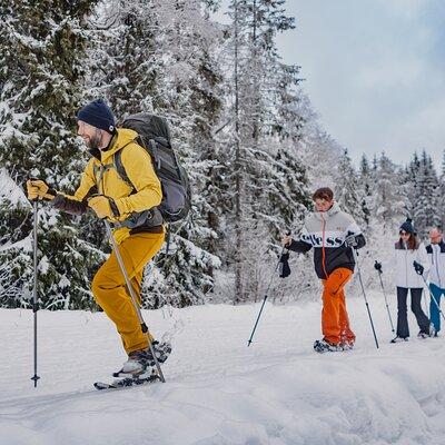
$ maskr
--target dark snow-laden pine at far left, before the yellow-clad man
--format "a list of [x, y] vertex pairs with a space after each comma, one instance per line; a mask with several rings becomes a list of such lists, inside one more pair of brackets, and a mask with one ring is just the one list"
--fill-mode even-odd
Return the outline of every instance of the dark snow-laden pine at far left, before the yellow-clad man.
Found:
[[[57, 189], [73, 189], [81, 169], [75, 111], [81, 99], [87, 48], [85, 18], [97, 1], [0, 1], [0, 165], [21, 187], [31, 175]], [[32, 280], [30, 206], [4, 202], [2, 235], [20, 293], [9, 306], [27, 305]], [[13, 226], [12, 226], [13, 224]], [[65, 215], [40, 207], [40, 300], [47, 308], [95, 306], [89, 277], [98, 258], [77, 238]], [[13, 230], [19, 227], [19, 230]], [[16, 243], [16, 244], [14, 244]]]

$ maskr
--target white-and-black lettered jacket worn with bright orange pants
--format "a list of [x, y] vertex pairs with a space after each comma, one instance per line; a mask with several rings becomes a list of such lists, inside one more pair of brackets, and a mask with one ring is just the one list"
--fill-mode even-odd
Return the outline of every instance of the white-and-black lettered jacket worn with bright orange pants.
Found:
[[314, 266], [318, 278], [326, 279], [339, 267], [354, 271], [354, 254], [345, 246], [345, 238], [355, 235], [357, 249], [366, 240], [354, 218], [334, 202], [327, 211], [315, 211], [305, 221], [298, 240], [293, 240], [289, 250], [305, 253], [314, 247]]

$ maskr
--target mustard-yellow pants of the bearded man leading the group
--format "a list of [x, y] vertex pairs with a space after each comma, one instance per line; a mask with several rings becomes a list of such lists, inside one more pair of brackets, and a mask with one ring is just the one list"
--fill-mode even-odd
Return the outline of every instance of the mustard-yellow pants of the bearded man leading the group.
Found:
[[[164, 233], [135, 234], [119, 245], [119, 251], [139, 305], [145, 266], [161, 248], [164, 236]], [[140, 329], [138, 315], [113, 251], [97, 271], [91, 287], [97, 304], [115, 323], [125, 350], [131, 353], [148, 348], [152, 337]]]

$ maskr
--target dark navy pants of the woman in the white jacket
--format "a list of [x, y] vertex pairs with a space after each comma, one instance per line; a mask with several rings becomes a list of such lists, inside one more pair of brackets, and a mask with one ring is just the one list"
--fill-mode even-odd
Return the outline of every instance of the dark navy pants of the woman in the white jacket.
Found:
[[397, 336], [402, 338], [409, 337], [408, 328], [408, 313], [406, 307], [406, 300], [408, 297], [408, 290], [411, 290], [411, 310], [417, 319], [417, 325], [421, 328], [421, 333], [429, 335], [429, 319], [422, 310], [422, 287], [421, 288], [406, 288], [397, 287]]

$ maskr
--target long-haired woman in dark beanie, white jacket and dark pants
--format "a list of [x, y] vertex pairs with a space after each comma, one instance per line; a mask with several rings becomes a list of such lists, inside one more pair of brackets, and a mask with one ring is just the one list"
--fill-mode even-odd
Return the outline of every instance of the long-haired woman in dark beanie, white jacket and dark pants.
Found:
[[395, 244], [395, 257], [397, 267], [397, 336], [390, 343], [406, 342], [409, 337], [407, 297], [411, 290], [411, 309], [416, 316], [419, 338], [426, 338], [434, 335], [434, 327], [428, 317], [422, 310], [421, 300], [423, 291], [423, 279], [414, 268], [414, 261], [417, 261], [423, 268], [424, 277], [427, 276], [431, 261], [428, 259], [425, 246], [416, 236], [412, 219], [407, 218], [400, 226], [400, 238]]

